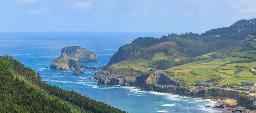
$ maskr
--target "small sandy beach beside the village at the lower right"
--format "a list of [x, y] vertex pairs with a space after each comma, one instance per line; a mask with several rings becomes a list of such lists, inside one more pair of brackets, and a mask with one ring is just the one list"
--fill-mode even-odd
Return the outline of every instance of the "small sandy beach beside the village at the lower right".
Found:
[[[236, 106], [237, 103], [236, 103], [236, 100], [234, 99], [226, 99], [226, 100], [211, 99], [211, 100], [217, 102], [215, 106], [219, 106], [220, 104], [224, 106], [224, 108], [222, 108], [222, 111], [223, 111], [222, 113], [232, 113], [232, 111], [234, 110], [245, 109], [245, 107], [239, 106], [239, 107], [235, 107], [233, 109], [228, 110], [229, 107], [226, 107], [227, 104], [229, 104], [230, 106], [233, 106], [233, 105]], [[254, 113], [254, 112], [255, 111], [250, 111], [250, 113]]]

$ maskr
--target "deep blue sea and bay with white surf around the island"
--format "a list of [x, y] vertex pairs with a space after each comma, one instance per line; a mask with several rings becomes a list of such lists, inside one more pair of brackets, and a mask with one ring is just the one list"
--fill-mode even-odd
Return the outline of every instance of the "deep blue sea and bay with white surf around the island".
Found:
[[[48, 36], [52, 39], [48, 39]], [[96, 53], [99, 62], [82, 63], [85, 66], [104, 66], [124, 44], [138, 37], [161, 38], [168, 33], [140, 32], [0, 32], [0, 55], [9, 55], [39, 73], [43, 81], [63, 89], [74, 90], [94, 100], [110, 104], [130, 113], [221, 113], [221, 109], [205, 108], [216, 102], [167, 93], [145, 92], [128, 86], [98, 85], [93, 78], [100, 70], [45, 69], [50, 61], [61, 55], [67, 46], [81, 46]], [[81, 77], [81, 79], [80, 79]]]

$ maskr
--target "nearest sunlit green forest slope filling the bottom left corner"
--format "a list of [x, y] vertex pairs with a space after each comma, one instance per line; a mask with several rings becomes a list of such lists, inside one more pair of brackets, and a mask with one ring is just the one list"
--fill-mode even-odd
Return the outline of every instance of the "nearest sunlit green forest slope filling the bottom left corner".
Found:
[[[67, 104], [50, 97], [49, 94], [37, 89], [23, 77], [14, 75], [12, 63], [16, 61], [8, 56], [0, 57], [1, 113], [72, 113]], [[27, 70], [22, 73], [26, 73], [27, 79], [30, 79]]]

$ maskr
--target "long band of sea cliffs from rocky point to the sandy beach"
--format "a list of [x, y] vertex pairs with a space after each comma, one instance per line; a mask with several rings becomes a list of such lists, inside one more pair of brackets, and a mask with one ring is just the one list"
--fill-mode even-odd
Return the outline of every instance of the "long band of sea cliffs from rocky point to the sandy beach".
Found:
[[186, 86], [180, 86], [177, 81], [169, 78], [166, 73], [160, 71], [151, 71], [149, 73], [141, 74], [135, 77], [135, 80], [126, 78], [124, 75], [111, 74], [109, 71], [98, 71], [95, 73], [94, 79], [98, 80], [98, 84], [102, 85], [133, 86], [143, 91], [173, 93], [200, 98], [215, 98], [222, 100], [235, 98], [240, 94], [238, 91], [226, 91], [221, 89], [200, 90], [197, 93], [193, 91], [190, 92]]

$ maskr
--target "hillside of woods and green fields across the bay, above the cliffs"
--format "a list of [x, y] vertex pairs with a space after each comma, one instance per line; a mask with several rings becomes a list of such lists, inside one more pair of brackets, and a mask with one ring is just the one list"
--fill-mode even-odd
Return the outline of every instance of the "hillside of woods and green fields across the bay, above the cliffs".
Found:
[[[161, 38], [139, 37], [119, 48], [107, 66], [110, 73], [123, 73], [126, 80], [153, 70], [165, 72], [182, 86], [195, 81], [220, 81], [256, 68], [256, 26], [254, 21], [239, 20], [230, 27], [202, 34], [175, 33]], [[222, 69], [230, 70], [222, 70]], [[231, 70], [232, 69], [232, 70]], [[246, 77], [254, 78], [254, 71]], [[244, 73], [244, 72], [243, 72]], [[256, 82], [254, 79], [237, 79]], [[232, 83], [225, 81], [222, 85]]]

